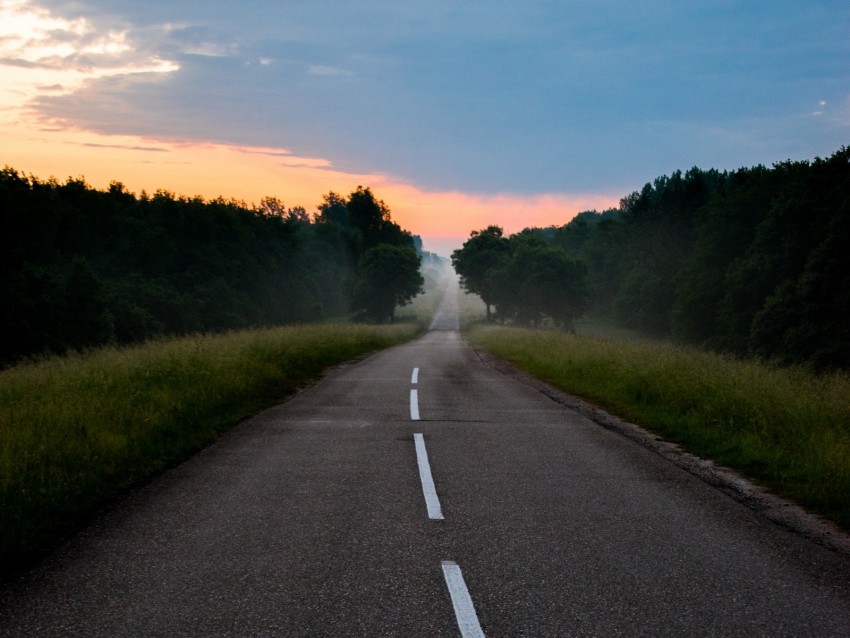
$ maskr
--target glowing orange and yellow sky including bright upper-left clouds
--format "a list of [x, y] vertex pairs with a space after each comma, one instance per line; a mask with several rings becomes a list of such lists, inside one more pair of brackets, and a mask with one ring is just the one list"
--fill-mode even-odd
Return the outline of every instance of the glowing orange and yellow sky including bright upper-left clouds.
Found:
[[[434, 192], [390, 174], [343, 172], [327, 159], [298, 157], [281, 148], [73, 128], [39, 115], [30, 106], [32, 100], [73, 93], [97, 78], [130, 73], [155, 78], [179, 66], [133, 57], [122, 33], [96, 32], [84, 19], [60, 21], [24, 0], [0, 0], [0, 22], [0, 60], [17, 61], [0, 62], [0, 165], [39, 179], [84, 177], [96, 188], [120, 181], [136, 194], [164, 189], [248, 204], [273, 196], [308, 212], [314, 212], [329, 191], [347, 195], [363, 185], [386, 202], [394, 221], [423, 237], [426, 250], [443, 255], [459, 247], [472, 230], [498, 225], [512, 233], [529, 226], [562, 225], [581, 211], [616, 206], [622, 195]], [[50, 34], [56, 31], [79, 36], [85, 41], [82, 52], [100, 63], [67, 64], [75, 53], [74, 39], [54, 41]]]

